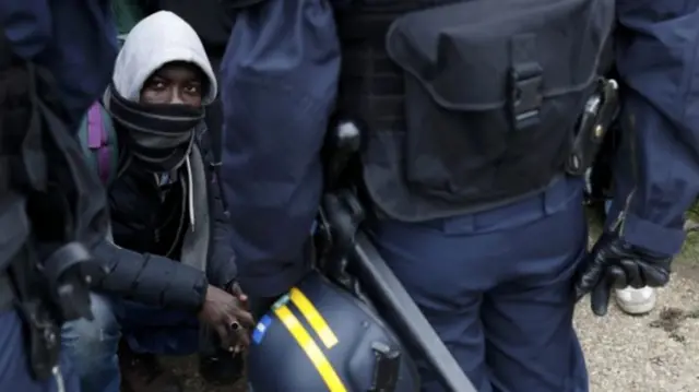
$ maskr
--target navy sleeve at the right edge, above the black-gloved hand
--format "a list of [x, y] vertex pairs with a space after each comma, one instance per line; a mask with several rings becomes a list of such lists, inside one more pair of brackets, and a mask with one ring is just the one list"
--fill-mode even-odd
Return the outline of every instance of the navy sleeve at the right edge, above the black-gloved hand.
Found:
[[699, 194], [699, 1], [617, 0], [621, 143], [608, 225], [665, 256], [679, 252]]

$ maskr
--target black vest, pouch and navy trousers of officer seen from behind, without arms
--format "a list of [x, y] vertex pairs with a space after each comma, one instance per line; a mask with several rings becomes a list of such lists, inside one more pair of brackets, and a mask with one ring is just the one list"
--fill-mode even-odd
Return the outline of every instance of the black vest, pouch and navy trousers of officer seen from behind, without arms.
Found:
[[[588, 390], [572, 325], [583, 180], [564, 162], [589, 136], [576, 121], [613, 13], [596, 0], [339, 12], [339, 106], [367, 121], [371, 237], [479, 392]], [[422, 382], [447, 391], [426, 366]]]

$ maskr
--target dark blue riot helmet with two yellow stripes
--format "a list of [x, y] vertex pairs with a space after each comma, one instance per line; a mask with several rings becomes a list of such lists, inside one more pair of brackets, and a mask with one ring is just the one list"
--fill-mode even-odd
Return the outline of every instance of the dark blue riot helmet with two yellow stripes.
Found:
[[252, 392], [419, 390], [415, 363], [391, 329], [318, 272], [260, 318], [248, 382]]

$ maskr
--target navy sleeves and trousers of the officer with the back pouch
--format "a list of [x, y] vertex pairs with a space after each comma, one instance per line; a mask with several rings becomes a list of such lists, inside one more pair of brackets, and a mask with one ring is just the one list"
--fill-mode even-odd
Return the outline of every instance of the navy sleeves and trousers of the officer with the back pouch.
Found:
[[[271, 1], [257, 24], [241, 17], [222, 87], [228, 126], [223, 173], [239, 265], [254, 277], [246, 288], [266, 295], [293, 281], [284, 271], [300, 252], [318, 200], [320, 116], [329, 104], [318, 110], [318, 100], [293, 94], [330, 91], [327, 78], [336, 67], [328, 60], [333, 49], [310, 56], [309, 72], [283, 73], [300, 64], [291, 59], [305, 51], [285, 45], [305, 29], [289, 22], [296, 16], [272, 25], [273, 16], [283, 17], [280, 2]], [[286, 0], [285, 7], [300, 2]], [[699, 192], [698, 3], [617, 1], [623, 116], [635, 127], [624, 133], [611, 216], [624, 210], [623, 236], [667, 254], [679, 250], [683, 214]], [[304, 50], [315, 55], [332, 47], [328, 35], [305, 39]], [[581, 202], [582, 180], [560, 177], [505, 207], [374, 227], [379, 250], [479, 392], [588, 391], [572, 325], [572, 278], [588, 240]], [[422, 370], [425, 391], [445, 391], [430, 369]]]

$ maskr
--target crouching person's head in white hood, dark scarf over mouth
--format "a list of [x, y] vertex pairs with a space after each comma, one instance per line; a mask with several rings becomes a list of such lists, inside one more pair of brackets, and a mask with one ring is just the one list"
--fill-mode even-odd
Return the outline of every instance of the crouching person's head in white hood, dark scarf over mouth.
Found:
[[197, 33], [179, 16], [161, 11], [129, 33], [104, 102], [122, 126], [125, 151], [144, 169], [164, 173], [189, 155], [203, 106], [214, 100], [216, 92]]

